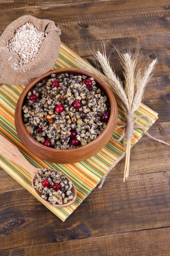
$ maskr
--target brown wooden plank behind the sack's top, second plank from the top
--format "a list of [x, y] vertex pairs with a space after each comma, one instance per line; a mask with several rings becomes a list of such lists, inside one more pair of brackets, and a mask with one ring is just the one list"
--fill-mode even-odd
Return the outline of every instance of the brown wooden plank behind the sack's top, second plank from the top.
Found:
[[[87, 11], [86, 11], [87, 10]], [[169, 32], [169, 1], [92, 1], [60, 6], [26, 6], [0, 11], [0, 33], [23, 14], [54, 20], [65, 44]], [[63, 15], [64, 14], [64, 15]], [[4, 17], [6, 17], [4, 19]]]

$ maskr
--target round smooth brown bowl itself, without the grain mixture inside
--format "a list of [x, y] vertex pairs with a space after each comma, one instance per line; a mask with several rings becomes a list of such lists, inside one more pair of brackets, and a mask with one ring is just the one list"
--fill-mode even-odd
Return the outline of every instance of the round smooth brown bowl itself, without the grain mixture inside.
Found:
[[[68, 74], [73, 74], [75, 76], [85, 75], [88, 77], [93, 77], [97, 82], [98, 86], [102, 88], [108, 96], [108, 99], [111, 104], [111, 115], [110, 115], [108, 124], [106, 125], [102, 133], [98, 137], [96, 137], [96, 139], [94, 139], [93, 141], [91, 141], [90, 143], [84, 146], [80, 146], [73, 149], [48, 148], [45, 145], [39, 143], [37, 140], [33, 139], [23, 124], [22, 106], [23, 106], [23, 102], [26, 97], [26, 94], [32, 87], [35, 86], [35, 84], [37, 84], [37, 82], [41, 81], [42, 79], [45, 79], [52, 73], [57, 73], [57, 74], [68, 73]], [[21, 142], [35, 156], [40, 157], [42, 160], [46, 160], [52, 163], [76, 163], [92, 157], [94, 154], [96, 154], [102, 148], [105, 147], [105, 145], [110, 140], [113, 132], [115, 131], [117, 114], [118, 112], [117, 112], [116, 100], [113, 96], [113, 93], [105, 83], [103, 83], [99, 78], [97, 78], [93, 74], [88, 73], [84, 70], [73, 69], [73, 68], [62, 68], [57, 70], [51, 70], [48, 73], [33, 79], [28, 84], [28, 86], [23, 90], [23, 92], [20, 95], [20, 98], [18, 99], [17, 106], [15, 109], [15, 126], [16, 126], [18, 137], [20, 138]]]

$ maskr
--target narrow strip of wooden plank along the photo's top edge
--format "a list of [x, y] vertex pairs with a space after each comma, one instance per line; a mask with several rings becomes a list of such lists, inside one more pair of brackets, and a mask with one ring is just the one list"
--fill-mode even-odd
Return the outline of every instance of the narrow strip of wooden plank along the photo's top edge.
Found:
[[[48, 6], [61, 6], [61, 5], [68, 5], [68, 6], [74, 6], [80, 4], [88, 3], [89, 5], [93, 6], [93, 0], [48, 0], [48, 1], [42, 1], [42, 0], [13, 0], [13, 1], [6, 1], [6, 0], [0, 0], [0, 9], [19, 9], [19, 8], [35, 8], [35, 7], [48, 7]], [[161, 3], [158, 1], [150, 0], [149, 4], [147, 0], [143, 1], [135, 1], [135, 0], [124, 0], [123, 2], [120, 2], [119, 0], [95, 0], [95, 2], [101, 2], [99, 3], [99, 6], [105, 6], [105, 5], [111, 5], [114, 7], [114, 12], [119, 16], [119, 12], [122, 14], [129, 15], [131, 13], [138, 13], [140, 10], [142, 10], [142, 13], [149, 13], [149, 12], [155, 12], [156, 10], [160, 10], [161, 12], [164, 10], [168, 10], [169, 2], [167, 0], [161, 0]], [[102, 3], [103, 2], [103, 3]], [[112, 3], [109, 3], [112, 2]], [[138, 4], [136, 6], [135, 4]], [[88, 6], [88, 5], [87, 5]], [[161, 8], [163, 7], [163, 8]]]

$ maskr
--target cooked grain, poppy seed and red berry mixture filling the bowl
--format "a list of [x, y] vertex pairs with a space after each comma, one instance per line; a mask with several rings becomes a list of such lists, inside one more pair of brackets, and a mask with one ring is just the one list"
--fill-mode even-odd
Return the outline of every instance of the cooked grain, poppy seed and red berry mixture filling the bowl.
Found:
[[57, 149], [86, 145], [104, 130], [110, 102], [94, 78], [51, 74], [23, 105], [23, 122], [35, 140]]

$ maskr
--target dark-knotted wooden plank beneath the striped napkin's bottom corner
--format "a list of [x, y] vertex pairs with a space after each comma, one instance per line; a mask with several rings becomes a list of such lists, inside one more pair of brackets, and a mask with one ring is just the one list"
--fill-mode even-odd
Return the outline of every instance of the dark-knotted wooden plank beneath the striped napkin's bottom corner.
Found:
[[170, 191], [164, 173], [136, 175], [95, 189], [63, 223], [26, 190], [1, 193], [0, 248], [167, 227]]

